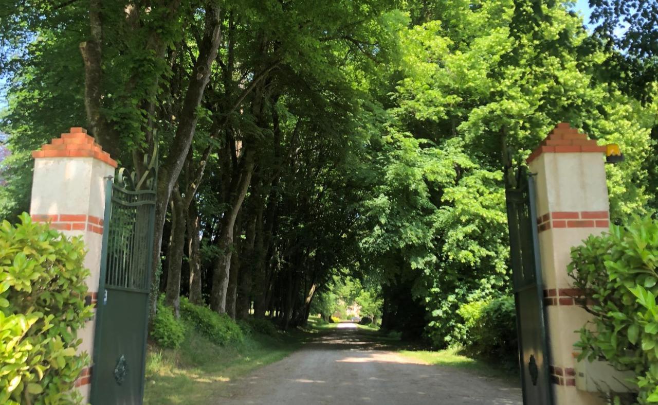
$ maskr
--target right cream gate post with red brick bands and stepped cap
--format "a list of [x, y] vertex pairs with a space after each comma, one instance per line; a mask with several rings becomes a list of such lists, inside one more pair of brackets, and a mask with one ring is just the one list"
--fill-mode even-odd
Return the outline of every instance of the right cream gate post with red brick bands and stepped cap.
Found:
[[563, 122], [527, 159], [536, 175], [549, 370], [557, 405], [606, 403], [597, 394], [576, 389], [573, 345], [580, 337], [576, 331], [590, 316], [574, 302], [578, 292], [570, 288], [567, 275], [571, 248], [609, 228], [604, 155], [605, 146]]

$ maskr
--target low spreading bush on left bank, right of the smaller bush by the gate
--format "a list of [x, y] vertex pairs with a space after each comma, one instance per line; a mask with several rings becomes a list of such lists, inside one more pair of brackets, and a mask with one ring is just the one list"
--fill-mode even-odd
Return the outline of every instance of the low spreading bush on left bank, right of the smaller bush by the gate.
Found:
[[240, 343], [244, 334], [240, 326], [226, 313], [216, 313], [206, 306], [192, 304], [187, 298], [180, 298], [180, 314], [190, 321], [202, 335], [216, 344]]

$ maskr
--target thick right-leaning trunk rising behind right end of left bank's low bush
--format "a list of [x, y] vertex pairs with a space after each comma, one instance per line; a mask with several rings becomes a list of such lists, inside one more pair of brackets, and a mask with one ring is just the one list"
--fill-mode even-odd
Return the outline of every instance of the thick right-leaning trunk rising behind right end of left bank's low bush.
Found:
[[226, 292], [228, 290], [228, 279], [231, 265], [231, 247], [233, 244], [233, 232], [242, 202], [247, 195], [251, 175], [253, 173], [253, 151], [247, 149], [243, 156], [243, 167], [240, 171], [240, 180], [234, 189], [230, 199], [230, 207], [222, 219], [222, 230], [217, 246], [222, 254], [217, 259], [213, 269], [213, 289], [211, 291], [210, 306], [213, 311], [226, 312]]

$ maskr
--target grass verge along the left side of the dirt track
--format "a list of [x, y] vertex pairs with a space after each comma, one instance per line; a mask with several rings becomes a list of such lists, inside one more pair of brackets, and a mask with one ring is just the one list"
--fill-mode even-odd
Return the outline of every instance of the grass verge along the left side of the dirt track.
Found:
[[146, 404], [207, 404], [226, 394], [230, 381], [277, 362], [297, 350], [308, 335], [300, 331], [276, 337], [253, 334], [240, 344], [218, 346], [188, 327], [178, 349], [149, 344]]

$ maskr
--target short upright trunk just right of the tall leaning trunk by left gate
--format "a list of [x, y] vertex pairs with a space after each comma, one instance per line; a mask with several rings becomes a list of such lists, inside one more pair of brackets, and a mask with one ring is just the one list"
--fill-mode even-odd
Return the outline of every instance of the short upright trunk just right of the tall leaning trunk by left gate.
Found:
[[168, 254], [171, 256], [167, 257], [168, 268], [166, 273], [166, 293], [164, 294], [164, 302], [174, 307], [174, 314], [178, 317], [180, 312], [180, 273], [183, 252], [185, 250], [186, 225], [185, 207], [178, 186], [176, 186], [174, 192], [172, 192], [171, 214], [171, 244], [168, 250]]

